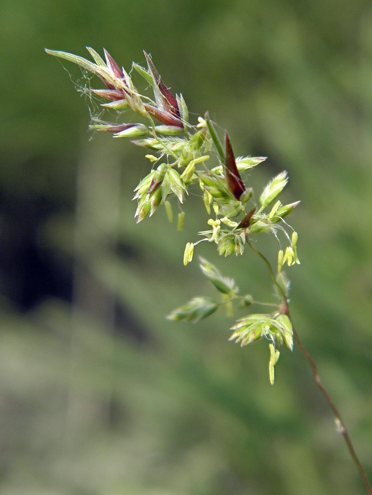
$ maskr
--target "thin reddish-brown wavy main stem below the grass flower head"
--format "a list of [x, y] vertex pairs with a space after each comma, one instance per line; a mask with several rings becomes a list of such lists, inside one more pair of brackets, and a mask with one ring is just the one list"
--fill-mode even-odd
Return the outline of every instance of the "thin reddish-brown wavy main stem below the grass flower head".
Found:
[[288, 299], [287, 299], [287, 296], [283, 290], [283, 288], [281, 287], [281, 285], [277, 282], [277, 280], [275, 279], [275, 276], [274, 276], [274, 272], [272, 270], [272, 267], [269, 263], [269, 261], [267, 260], [267, 258], [265, 258], [265, 256], [260, 253], [256, 247], [254, 247], [254, 245], [251, 243], [251, 241], [249, 240], [248, 236], [246, 237], [246, 240], [247, 240], [247, 243], [249, 245], [249, 247], [251, 248], [251, 250], [256, 253], [256, 255], [258, 255], [261, 260], [265, 263], [267, 269], [268, 269], [268, 272], [270, 274], [270, 278], [271, 280], [273, 281], [275, 287], [278, 289], [278, 291], [280, 292], [280, 294], [282, 295], [283, 297], [283, 308], [282, 308], [282, 312], [287, 314], [287, 316], [289, 317], [290, 321], [291, 321], [291, 324], [292, 324], [292, 330], [293, 330], [293, 336], [295, 338], [295, 341], [300, 349], [300, 351], [302, 352], [302, 354], [305, 356], [305, 358], [309, 361], [309, 363], [311, 364], [311, 367], [313, 369], [313, 373], [314, 373], [314, 378], [315, 378], [315, 382], [317, 384], [317, 386], [320, 388], [321, 392], [323, 393], [324, 397], [326, 398], [328, 404], [330, 405], [332, 411], [333, 411], [333, 414], [334, 414], [334, 419], [335, 419], [335, 423], [337, 425], [337, 429], [338, 431], [342, 434], [345, 442], [346, 442], [346, 445], [347, 445], [347, 448], [349, 449], [349, 452], [350, 452], [350, 455], [352, 457], [352, 460], [354, 461], [354, 464], [357, 468], [357, 470], [359, 471], [359, 474], [364, 482], [364, 485], [368, 491], [368, 493], [370, 493], [370, 495], [372, 495], [372, 487], [371, 485], [369, 484], [369, 481], [368, 481], [368, 478], [367, 478], [367, 475], [365, 474], [365, 471], [363, 469], [363, 466], [361, 465], [359, 459], [358, 459], [358, 456], [356, 455], [356, 452], [354, 450], [354, 447], [353, 447], [353, 444], [350, 440], [350, 437], [349, 437], [349, 434], [347, 433], [347, 430], [346, 430], [346, 427], [341, 419], [341, 416], [340, 416], [340, 413], [338, 412], [338, 409], [337, 407], [335, 406], [333, 400], [331, 399], [330, 395], [328, 394], [327, 390], [324, 388], [322, 382], [320, 381], [320, 378], [319, 378], [319, 373], [318, 373], [318, 368], [315, 364], [315, 361], [314, 359], [312, 358], [312, 356], [308, 353], [308, 351], [305, 349], [305, 347], [303, 346], [299, 336], [298, 336], [298, 333], [296, 332], [295, 330], [295, 327], [294, 327], [294, 324], [293, 324], [293, 320], [292, 320], [292, 317], [290, 315], [290, 311], [289, 311], [289, 306], [288, 306]]

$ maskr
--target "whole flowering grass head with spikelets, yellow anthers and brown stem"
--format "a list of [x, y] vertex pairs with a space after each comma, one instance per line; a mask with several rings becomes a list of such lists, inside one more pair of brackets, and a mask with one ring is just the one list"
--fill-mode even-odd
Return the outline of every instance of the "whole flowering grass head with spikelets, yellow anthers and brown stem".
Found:
[[[231, 327], [233, 333], [229, 340], [243, 347], [259, 339], [266, 339], [270, 351], [269, 379], [273, 384], [274, 366], [280, 355], [277, 347], [285, 344], [292, 351], [293, 338], [295, 338], [301, 352], [313, 367], [316, 383], [332, 407], [350, 454], [368, 492], [372, 493], [346, 428], [319, 380], [314, 360], [303, 347], [293, 328], [289, 313], [290, 283], [283, 266], [287, 263], [290, 267], [299, 264], [300, 261], [297, 253], [297, 232], [293, 231], [290, 237], [286, 229], [293, 229], [284, 221], [284, 218], [298, 206], [299, 201], [283, 205], [277, 199], [288, 183], [287, 172], [283, 171], [269, 181], [263, 188], [257, 205], [252, 188], [243, 181], [241, 174], [264, 161], [265, 157], [235, 158], [229, 134], [225, 131], [224, 144], [222, 144], [208, 112], [204, 118], [198, 118], [197, 124], [190, 124], [189, 111], [182, 95], [172, 95], [156, 70], [151, 56], [146, 52], [144, 56], [147, 68], [133, 62], [132, 69], [142, 77], [146, 86], [152, 89], [151, 98], [134, 86], [131, 76], [133, 70], [128, 73], [123, 67], [120, 68], [107, 50], [104, 49], [105, 59], [94, 49], [87, 47], [87, 50], [94, 62], [68, 52], [49, 49], [46, 49], [46, 52], [79, 65], [82, 69], [97, 75], [105, 84], [105, 89], [89, 89], [89, 91], [102, 100], [101, 106], [104, 111], [116, 112], [117, 121], [92, 119], [91, 129], [111, 132], [116, 138], [128, 137], [132, 143], [150, 149], [156, 154], [156, 156], [146, 155], [154, 166], [151, 166], [148, 175], [140, 181], [134, 191], [133, 199], [138, 203], [135, 213], [137, 222], [146, 216], [152, 216], [161, 204], [165, 205], [167, 216], [171, 221], [169, 199], [175, 197], [182, 205], [189, 188], [199, 185], [208, 215], [213, 212], [207, 222], [210, 228], [199, 232], [201, 240], [215, 243], [218, 253], [225, 257], [232, 254], [242, 255], [245, 246], [248, 245], [266, 264], [280, 301], [270, 304], [255, 301], [250, 294], [239, 295], [239, 288], [233, 279], [224, 277], [214, 265], [200, 258], [203, 275], [220, 293], [220, 301], [210, 297], [195, 297], [172, 311], [167, 318], [173, 321], [196, 322], [215, 313], [220, 307], [225, 307], [230, 314], [235, 302], [238, 309], [245, 309], [253, 304], [271, 305], [273, 310], [270, 313], [255, 312], [240, 317]], [[139, 121], [120, 122], [120, 119], [126, 115], [124, 111], [131, 111], [138, 116]], [[154, 119], [158, 123], [155, 123]], [[205, 162], [210, 158], [211, 151], [217, 157], [217, 165], [208, 169]], [[182, 228], [183, 220], [184, 212], [181, 210], [178, 215], [178, 229]], [[290, 241], [285, 251], [280, 246], [276, 276], [271, 264], [252, 244], [252, 238], [263, 232], [271, 232], [276, 239], [278, 233], [283, 232], [285, 238]], [[187, 243], [183, 256], [184, 265], [192, 261], [194, 247], [198, 242]]]

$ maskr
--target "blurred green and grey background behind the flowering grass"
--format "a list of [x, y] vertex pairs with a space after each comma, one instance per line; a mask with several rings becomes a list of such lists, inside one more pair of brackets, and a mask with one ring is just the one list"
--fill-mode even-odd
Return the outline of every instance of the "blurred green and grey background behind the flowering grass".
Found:
[[[164, 319], [213, 294], [182, 265], [200, 198], [182, 233], [163, 208], [135, 224], [143, 150], [87, 132], [81, 72], [43, 51], [85, 45], [126, 69], [151, 52], [192, 119], [209, 110], [236, 155], [268, 157], [252, 184], [289, 172], [293, 317], [372, 478], [372, 4], [3, 0], [0, 492], [365, 493], [296, 347], [271, 387], [267, 344], [228, 343], [234, 320]], [[243, 292], [271, 290], [251, 253], [205, 244]]]

